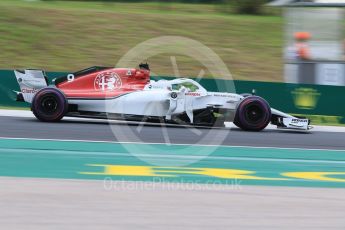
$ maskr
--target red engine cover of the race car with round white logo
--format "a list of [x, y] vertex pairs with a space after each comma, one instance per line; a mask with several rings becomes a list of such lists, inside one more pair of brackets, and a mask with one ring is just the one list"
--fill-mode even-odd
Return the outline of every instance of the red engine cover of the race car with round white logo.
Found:
[[109, 68], [84, 75], [69, 75], [56, 84], [67, 98], [113, 98], [142, 90], [150, 82], [146, 69]]

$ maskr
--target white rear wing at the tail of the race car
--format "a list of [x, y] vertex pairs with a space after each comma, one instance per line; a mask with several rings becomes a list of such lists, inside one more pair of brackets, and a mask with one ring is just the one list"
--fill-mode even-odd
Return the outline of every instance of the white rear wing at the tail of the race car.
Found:
[[43, 70], [15, 70], [20, 92], [17, 93], [17, 101], [32, 102], [35, 94], [42, 88], [48, 86], [48, 80]]

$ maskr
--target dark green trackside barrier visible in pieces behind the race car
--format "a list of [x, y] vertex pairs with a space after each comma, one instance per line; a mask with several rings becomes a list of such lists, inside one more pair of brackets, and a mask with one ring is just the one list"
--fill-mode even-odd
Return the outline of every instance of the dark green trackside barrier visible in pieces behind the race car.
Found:
[[[63, 72], [48, 72], [49, 80], [64, 76]], [[157, 77], [156, 79], [169, 79]], [[202, 79], [199, 81], [209, 91], [222, 91], [227, 80]], [[287, 113], [307, 116], [314, 123], [345, 124], [345, 87], [308, 84], [287, 84], [256, 81], [234, 81], [236, 93], [251, 93], [265, 98], [272, 107]], [[220, 87], [219, 87], [220, 86]], [[28, 107], [26, 103], [15, 101], [19, 91], [12, 70], [0, 70], [0, 106]]]

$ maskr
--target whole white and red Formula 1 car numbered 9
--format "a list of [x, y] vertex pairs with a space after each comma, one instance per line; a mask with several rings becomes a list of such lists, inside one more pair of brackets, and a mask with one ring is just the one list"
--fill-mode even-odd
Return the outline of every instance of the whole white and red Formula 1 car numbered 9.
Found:
[[284, 129], [311, 128], [308, 119], [270, 108], [259, 96], [207, 92], [186, 78], [150, 80], [148, 64], [137, 69], [91, 67], [54, 79], [50, 86], [42, 70], [14, 72], [21, 90], [17, 101], [30, 103], [40, 121], [73, 116], [206, 126], [232, 121], [248, 131], [260, 131], [269, 123]]

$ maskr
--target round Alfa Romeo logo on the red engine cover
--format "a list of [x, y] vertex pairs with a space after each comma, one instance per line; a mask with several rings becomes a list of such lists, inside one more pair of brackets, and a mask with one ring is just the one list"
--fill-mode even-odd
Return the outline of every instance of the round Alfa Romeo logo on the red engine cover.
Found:
[[116, 73], [105, 72], [97, 75], [94, 86], [95, 90], [113, 91], [121, 88], [122, 81]]

